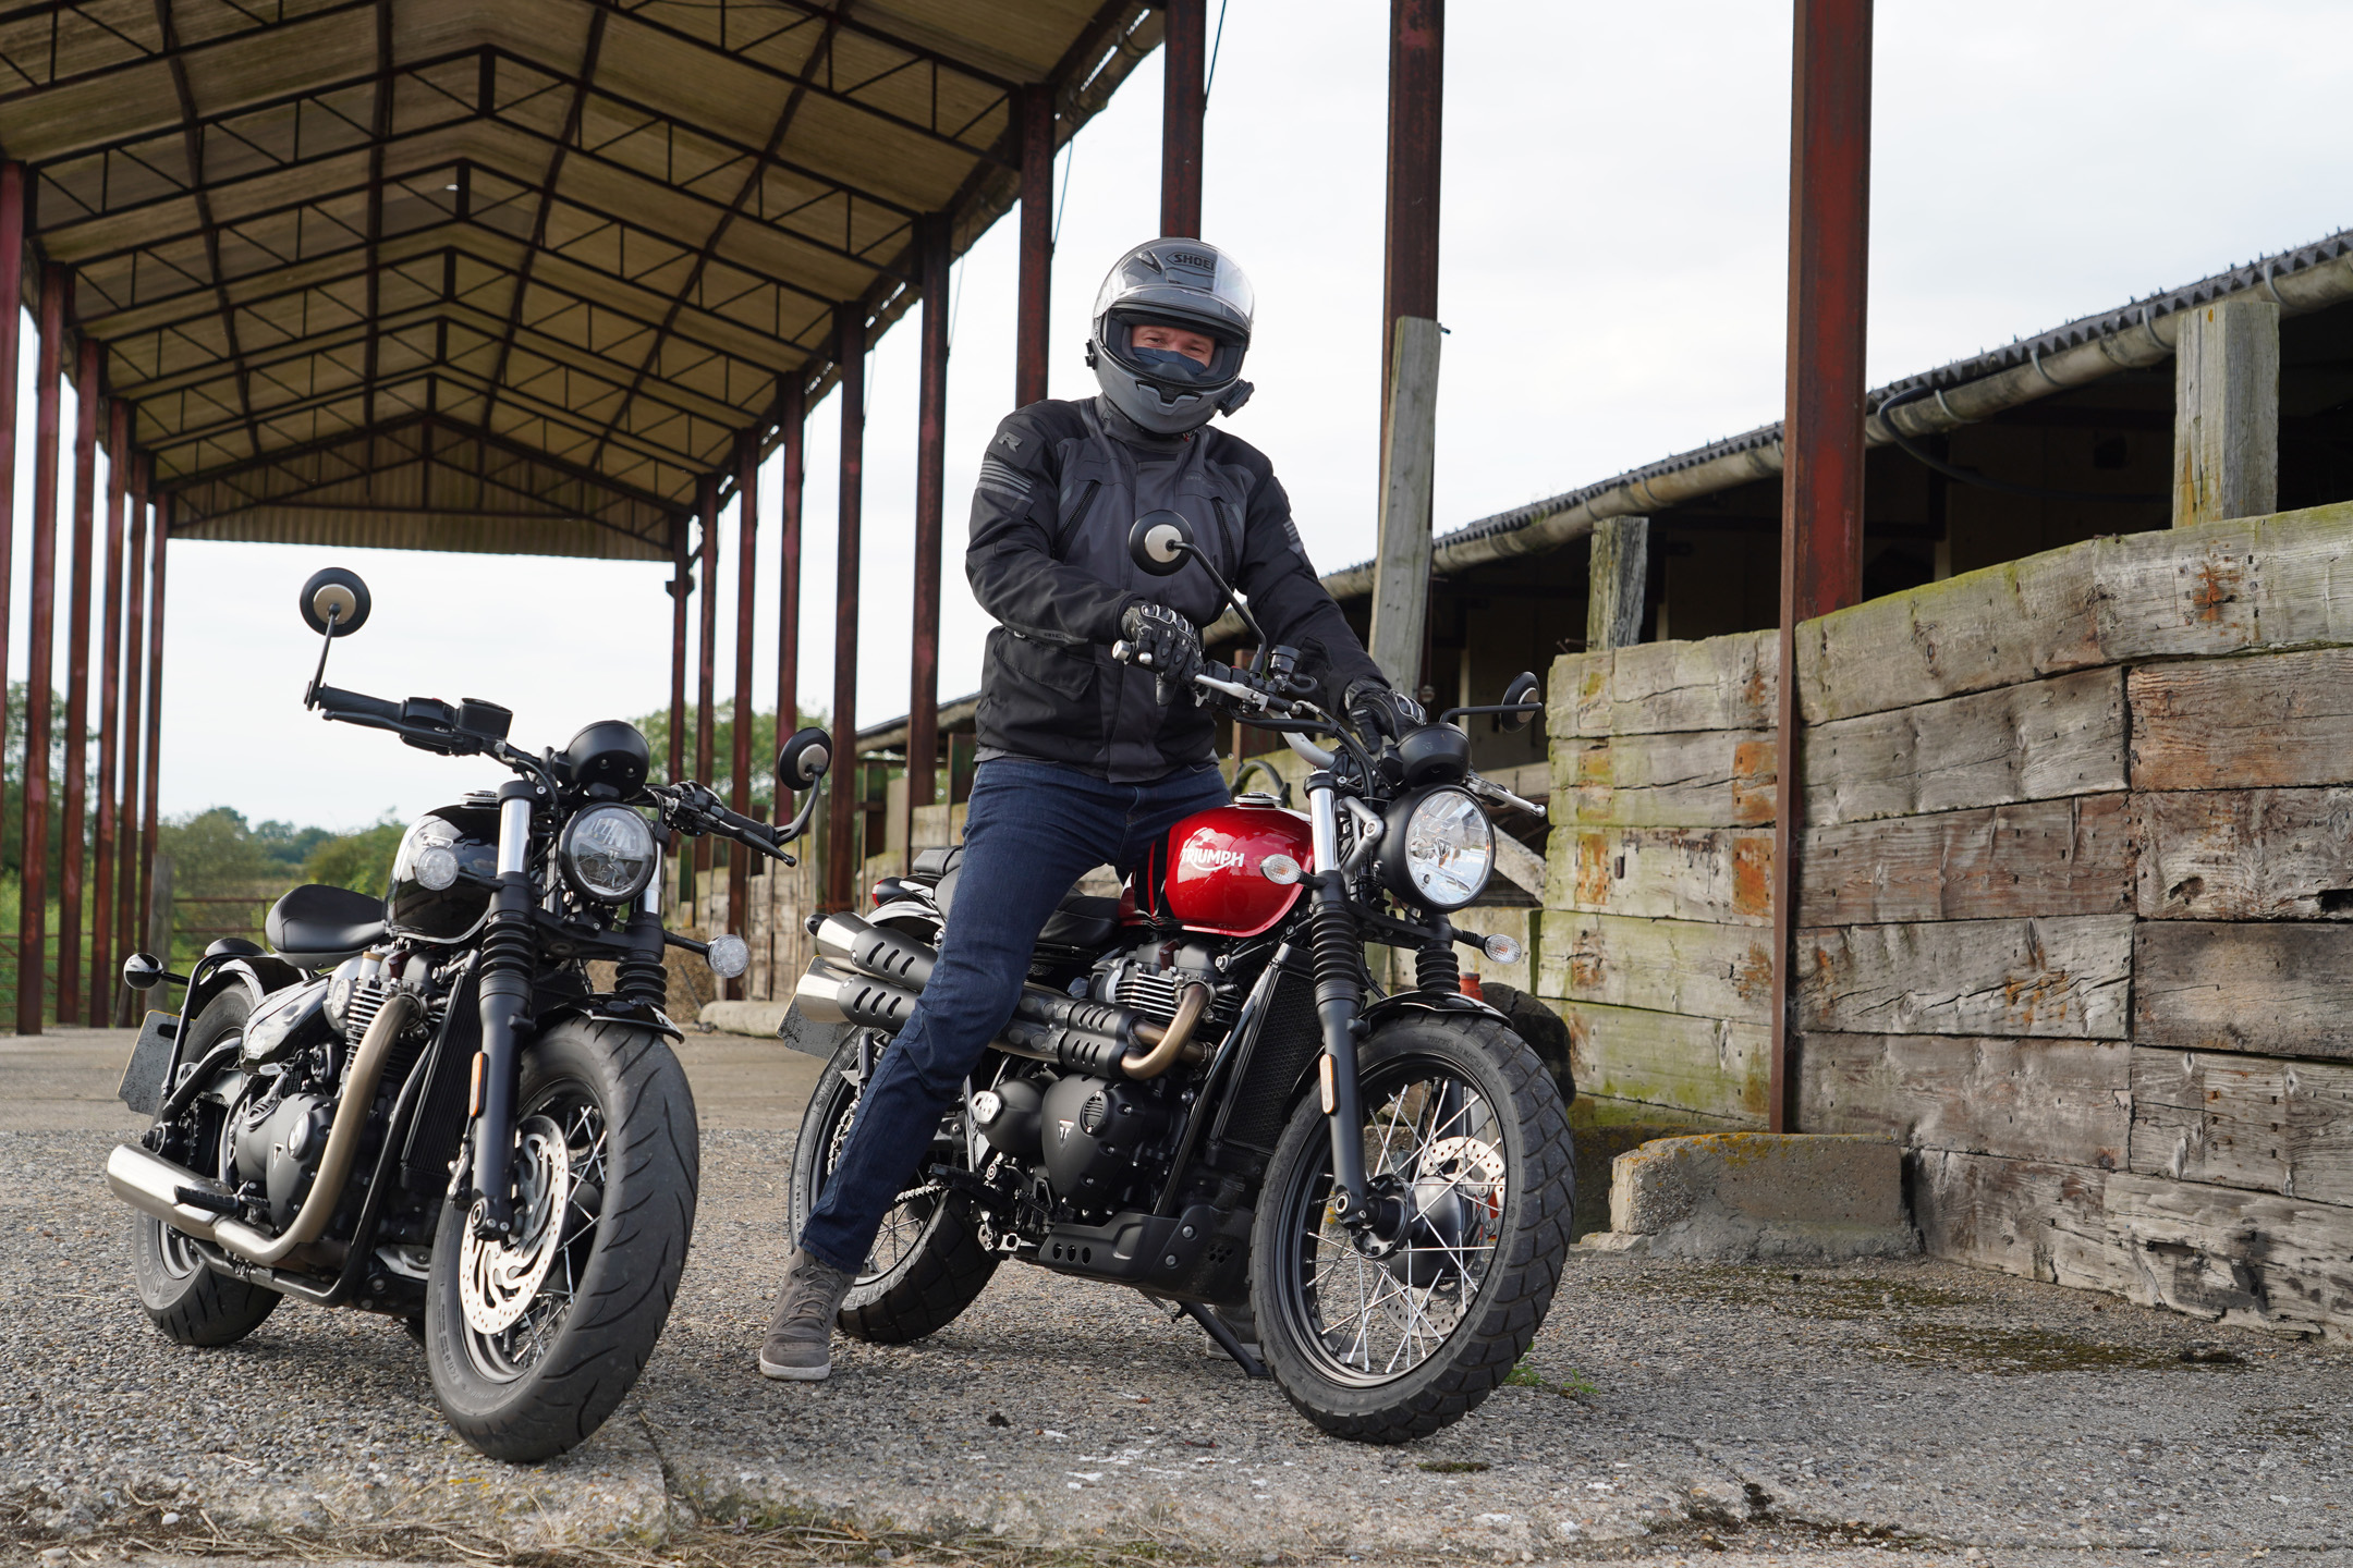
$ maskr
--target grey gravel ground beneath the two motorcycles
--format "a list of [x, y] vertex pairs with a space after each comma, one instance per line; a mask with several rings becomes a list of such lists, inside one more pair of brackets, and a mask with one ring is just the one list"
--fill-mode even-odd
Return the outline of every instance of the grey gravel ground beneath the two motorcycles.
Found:
[[1224, 1561], [2353, 1563], [2353, 1354], [1939, 1262], [1579, 1258], [1537, 1387], [1409, 1448], [1329, 1441], [1188, 1324], [1024, 1267], [922, 1345], [765, 1382], [791, 1138], [704, 1143], [645, 1380], [581, 1450], [508, 1469], [447, 1434], [398, 1324], [289, 1305], [233, 1349], [167, 1345], [99, 1180], [111, 1135], [0, 1131], [0, 1552], [407, 1528], [621, 1549], [833, 1519], [901, 1559], [885, 1530]]

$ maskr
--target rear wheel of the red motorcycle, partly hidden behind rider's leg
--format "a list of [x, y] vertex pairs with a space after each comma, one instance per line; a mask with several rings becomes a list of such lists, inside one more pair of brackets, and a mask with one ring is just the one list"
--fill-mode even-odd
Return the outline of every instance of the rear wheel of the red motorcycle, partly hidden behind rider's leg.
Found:
[[[889, 1046], [875, 1041], [875, 1063]], [[793, 1145], [793, 1201], [788, 1206], [793, 1239], [809, 1222], [816, 1194], [833, 1180], [833, 1171], [849, 1143], [849, 1126], [859, 1110], [859, 1034], [852, 1032], [826, 1074], [809, 1095], [809, 1107], [800, 1117], [800, 1140]], [[948, 1112], [939, 1124], [932, 1145], [932, 1164], [967, 1166], [962, 1145], [962, 1114]], [[856, 1284], [842, 1298], [835, 1326], [859, 1340], [875, 1345], [906, 1345], [953, 1324], [965, 1307], [979, 1300], [988, 1276], [998, 1272], [998, 1255], [981, 1246], [979, 1225], [965, 1204], [939, 1182], [922, 1178], [899, 1194], [882, 1215], [873, 1251]]]

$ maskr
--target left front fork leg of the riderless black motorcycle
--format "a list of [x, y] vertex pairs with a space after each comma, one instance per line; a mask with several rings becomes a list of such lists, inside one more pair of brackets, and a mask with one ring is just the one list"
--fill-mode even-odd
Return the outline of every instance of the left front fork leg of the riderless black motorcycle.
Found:
[[515, 1091], [539, 940], [532, 931], [532, 802], [541, 788], [520, 778], [499, 788], [499, 891], [482, 931], [482, 1053], [473, 1065], [475, 1234], [515, 1232]]

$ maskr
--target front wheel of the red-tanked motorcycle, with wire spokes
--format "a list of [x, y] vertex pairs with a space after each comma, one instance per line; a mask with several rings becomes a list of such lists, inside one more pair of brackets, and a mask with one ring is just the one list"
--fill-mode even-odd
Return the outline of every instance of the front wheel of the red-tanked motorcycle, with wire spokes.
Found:
[[1358, 1084], [1372, 1197], [1405, 1225], [1381, 1241], [1334, 1218], [1329, 1121], [1308, 1098], [1266, 1173], [1252, 1307], [1308, 1420], [1402, 1443], [1478, 1408], [1537, 1338], [1569, 1248], [1569, 1124], [1534, 1051], [1468, 1013], [1384, 1025]]

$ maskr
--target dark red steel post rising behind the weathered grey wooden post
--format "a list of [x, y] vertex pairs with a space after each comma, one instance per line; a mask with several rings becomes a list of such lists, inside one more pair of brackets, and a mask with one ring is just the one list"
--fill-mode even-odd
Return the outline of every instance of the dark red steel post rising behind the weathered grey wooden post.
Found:
[[[1398, 317], [1438, 320], [1438, 153], [1445, 129], [1445, 0], [1391, 0], [1381, 430], [1388, 430], [1388, 378], [1398, 355]], [[1388, 484], [1388, 451], [1381, 454], [1381, 484]]]

